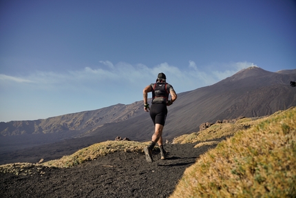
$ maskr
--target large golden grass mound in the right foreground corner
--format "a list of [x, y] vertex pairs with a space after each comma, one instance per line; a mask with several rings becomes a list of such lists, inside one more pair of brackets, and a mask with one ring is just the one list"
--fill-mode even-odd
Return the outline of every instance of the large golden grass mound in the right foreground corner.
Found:
[[296, 197], [296, 108], [257, 121], [187, 168], [171, 198]]

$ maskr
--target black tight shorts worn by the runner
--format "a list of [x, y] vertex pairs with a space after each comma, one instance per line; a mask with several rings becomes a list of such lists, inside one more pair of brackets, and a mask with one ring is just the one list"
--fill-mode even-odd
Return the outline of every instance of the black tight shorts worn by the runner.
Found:
[[167, 118], [167, 104], [165, 103], [154, 103], [150, 107], [150, 117], [154, 123], [165, 126], [165, 119]]

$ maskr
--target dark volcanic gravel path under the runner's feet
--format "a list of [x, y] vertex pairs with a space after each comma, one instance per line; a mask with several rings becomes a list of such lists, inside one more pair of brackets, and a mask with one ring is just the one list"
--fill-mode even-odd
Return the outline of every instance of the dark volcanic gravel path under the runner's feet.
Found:
[[213, 146], [167, 144], [166, 160], [116, 152], [74, 168], [34, 168], [31, 175], [0, 173], [1, 197], [169, 197], [184, 170]]

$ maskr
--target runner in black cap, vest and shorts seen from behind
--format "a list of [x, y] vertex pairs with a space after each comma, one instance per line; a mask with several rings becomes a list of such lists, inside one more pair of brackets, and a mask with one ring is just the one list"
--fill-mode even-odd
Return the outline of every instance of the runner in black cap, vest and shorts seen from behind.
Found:
[[[165, 159], [167, 151], [162, 145], [162, 130], [165, 126], [165, 119], [167, 118], [167, 106], [170, 106], [173, 101], [177, 99], [175, 90], [173, 86], [166, 82], [167, 77], [164, 73], [159, 73], [156, 79], [156, 83], [151, 83], [149, 86], [145, 87], [143, 90], [144, 98], [144, 110], [149, 112], [150, 117], [154, 123], [154, 135], [152, 135], [152, 140], [150, 146], [144, 148], [146, 155], [146, 160], [152, 162], [152, 149], [158, 143], [160, 147], [161, 159]], [[148, 92], [152, 92], [152, 104], [149, 108], [149, 103], [147, 103]], [[171, 100], [169, 100], [169, 94], [171, 94]]]

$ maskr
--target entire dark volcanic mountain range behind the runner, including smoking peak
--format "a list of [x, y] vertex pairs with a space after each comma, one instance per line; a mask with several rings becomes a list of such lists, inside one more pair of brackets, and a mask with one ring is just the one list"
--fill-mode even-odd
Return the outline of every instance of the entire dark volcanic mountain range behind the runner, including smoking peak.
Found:
[[[200, 124], [208, 121], [262, 117], [296, 106], [296, 90], [290, 86], [295, 71], [277, 73], [254, 67], [211, 86], [178, 93], [168, 107], [163, 139], [198, 132]], [[154, 125], [142, 101], [136, 101], [43, 120], [2, 122], [0, 132], [0, 161], [5, 163], [10, 158], [32, 158], [36, 149], [42, 158], [54, 159], [118, 136], [149, 141]]]

